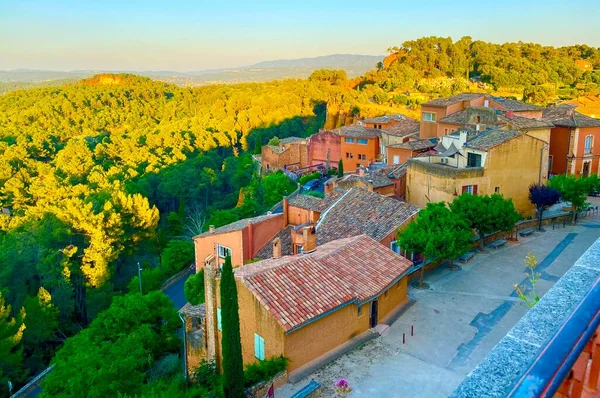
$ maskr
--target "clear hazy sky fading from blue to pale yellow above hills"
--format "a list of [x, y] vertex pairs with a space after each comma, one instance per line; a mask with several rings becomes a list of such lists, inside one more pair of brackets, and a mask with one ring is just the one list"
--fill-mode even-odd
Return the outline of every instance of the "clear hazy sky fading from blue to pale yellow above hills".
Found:
[[0, 69], [190, 71], [429, 35], [600, 47], [600, 0], [0, 0]]

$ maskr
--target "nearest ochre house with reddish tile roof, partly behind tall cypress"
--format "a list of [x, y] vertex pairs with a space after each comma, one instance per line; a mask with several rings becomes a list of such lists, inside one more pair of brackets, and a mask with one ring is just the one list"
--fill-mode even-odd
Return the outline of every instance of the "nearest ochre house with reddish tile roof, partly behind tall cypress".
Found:
[[[288, 374], [357, 336], [373, 333], [408, 303], [412, 263], [359, 235], [332, 240], [303, 254], [235, 270], [244, 364], [280, 355]], [[207, 359], [222, 362], [218, 267], [205, 273]], [[332, 333], [335, 331], [335, 333]]]

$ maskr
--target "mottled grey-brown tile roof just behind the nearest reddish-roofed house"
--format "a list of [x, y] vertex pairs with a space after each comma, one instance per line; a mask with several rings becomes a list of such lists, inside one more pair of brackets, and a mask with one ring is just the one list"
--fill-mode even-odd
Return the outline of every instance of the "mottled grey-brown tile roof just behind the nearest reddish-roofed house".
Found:
[[365, 189], [352, 188], [321, 214], [317, 245], [366, 234], [376, 241], [410, 220], [419, 208]]

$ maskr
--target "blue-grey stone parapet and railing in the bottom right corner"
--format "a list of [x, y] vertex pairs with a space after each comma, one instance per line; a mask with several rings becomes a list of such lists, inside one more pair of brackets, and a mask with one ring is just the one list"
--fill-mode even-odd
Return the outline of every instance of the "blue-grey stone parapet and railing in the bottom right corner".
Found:
[[451, 397], [600, 397], [600, 239]]

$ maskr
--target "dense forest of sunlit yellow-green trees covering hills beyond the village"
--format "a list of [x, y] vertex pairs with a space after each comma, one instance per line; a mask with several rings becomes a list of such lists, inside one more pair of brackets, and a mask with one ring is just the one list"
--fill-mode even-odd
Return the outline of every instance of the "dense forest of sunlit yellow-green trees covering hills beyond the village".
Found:
[[[99, 344], [93, 325], [101, 324], [93, 321], [139, 309], [130, 308], [128, 293], [138, 261], [150, 297], [193, 261], [194, 234], [262, 214], [295, 189], [282, 173], [256, 172], [252, 154], [271, 138], [415, 110], [416, 94], [510, 89], [544, 103], [558, 90], [589, 93], [600, 85], [600, 50], [584, 45], [429, 37], [390, 54], [354, 79], [321, 70], [306, 80], [182, 88], [98, 75], [0, 95], [0, 395], [8, 381], [20, 386], [43, 370], [57, 350], [62, 367], [48, 382], [50, 395], [76, 395], [62, 390], [60, 377], [92, 366], [76, 347], [92, 347], [98, 363], [119, 361], [120, 351], [100, 346], [131, 347], [135, 339], [103, 332]], [[582, 70], [581, 60], [596, 70]], [[161, 307], [149, 323], [167, 317], [168, 305], [156, 300]], [[136, 383], [148, 382], [153, 364], [176, 351], [172, 333], [160, 335], [168, 347], [135, 351], [146, 361]], [[142, 386], [126, 391], [140, 394]]]

